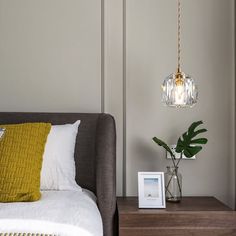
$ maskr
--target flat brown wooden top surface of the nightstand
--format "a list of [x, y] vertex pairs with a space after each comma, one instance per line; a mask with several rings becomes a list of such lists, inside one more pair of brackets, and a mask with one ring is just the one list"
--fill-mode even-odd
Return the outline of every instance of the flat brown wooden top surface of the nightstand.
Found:
[[139, 209], [137, 197], [118, 197], [118, 209], [121, 213], [161, 213], [175, 211], [232, 211], [214, 197], [183, 197], [180, 203], [167, 202], [166, 209]]

